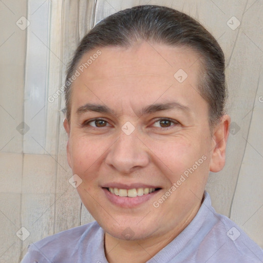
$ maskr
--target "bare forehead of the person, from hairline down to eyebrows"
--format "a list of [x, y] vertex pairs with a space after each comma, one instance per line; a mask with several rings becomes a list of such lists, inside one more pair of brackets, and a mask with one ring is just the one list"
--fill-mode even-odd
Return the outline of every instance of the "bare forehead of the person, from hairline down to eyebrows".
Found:
[[98, 48], [83, 55], [77, 70], [80, 76], [72, 83], [71, 98], [76, 107], [90, 101], [139, 107], [172, 96], [188, 106], [200, 97], [199, 55], [187, 47], [142, 42]]

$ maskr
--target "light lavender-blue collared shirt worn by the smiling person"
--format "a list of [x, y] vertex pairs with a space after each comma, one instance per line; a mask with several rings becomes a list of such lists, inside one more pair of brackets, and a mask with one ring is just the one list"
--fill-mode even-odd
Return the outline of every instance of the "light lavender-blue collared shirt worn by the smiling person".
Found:
[[[107, 263], [104, 231], [95, 221], [29, 246], [22, 263]], [[147, 263], [263, 263], [263, 250], [205, 198], [191, 223]]]

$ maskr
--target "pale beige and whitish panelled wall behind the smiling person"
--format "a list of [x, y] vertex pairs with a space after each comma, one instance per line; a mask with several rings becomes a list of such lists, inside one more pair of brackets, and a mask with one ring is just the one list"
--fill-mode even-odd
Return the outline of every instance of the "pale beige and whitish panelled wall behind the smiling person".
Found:
[[0, 0], [1, 263], [18, 263], [30, 243], [94, 220], [68, 181], [65, 70], [97, 22], [144, 4], [193, 16], [226, 55], [227, 163], [206, 189], [216, 211], [263, 248], [262, 1]]

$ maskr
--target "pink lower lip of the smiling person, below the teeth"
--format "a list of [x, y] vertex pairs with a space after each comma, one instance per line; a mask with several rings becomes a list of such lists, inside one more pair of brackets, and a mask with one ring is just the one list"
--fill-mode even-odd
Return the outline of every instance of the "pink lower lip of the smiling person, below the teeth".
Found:
[[118, 196], [118, 195], [112, 194], [106, 188], [102, 188], [102, 190], [104, 191], [107, 199], [111, 203], [114, 203], [123, 208], [134, 208], [135, 206], [139, 206], [140, 204], [154, 197], [160, 191], [160, 190], [157, 190], [155, 192], [152, 192], [146, 195], [142, 195], [142, 196], [128, 197], [128, 196]]

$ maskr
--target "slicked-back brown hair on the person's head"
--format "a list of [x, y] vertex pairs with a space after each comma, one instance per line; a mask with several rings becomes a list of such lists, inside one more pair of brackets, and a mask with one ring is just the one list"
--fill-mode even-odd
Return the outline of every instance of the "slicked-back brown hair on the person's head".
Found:
[[211, 33], [194, 18], [172, 8], [154, 5], [136, 6], [112, 14], [83, 37], [67, 69], [65, 111], [68, 121], [71, 93], [71, 82], [68, 80], [82, 56], [100, 47], [129, 47], [138, 40], [190, 47], [200, 55], [203, 69], [198, 91], [208, 102], [210, 126], [216, 124], [224, 114], [227, 97], [221, 47]]

